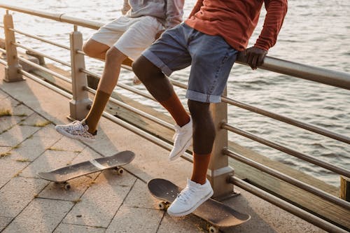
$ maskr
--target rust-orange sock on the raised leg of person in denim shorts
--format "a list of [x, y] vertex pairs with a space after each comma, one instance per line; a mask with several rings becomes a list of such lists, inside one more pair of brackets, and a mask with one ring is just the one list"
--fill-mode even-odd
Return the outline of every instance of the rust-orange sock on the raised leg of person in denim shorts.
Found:
[[180, 127], [183, 127], [183, 125], [186, 125], [188, 122], [190, 122], [190, 115], [188, 115], [185, 108], [183, 108], [183, 105], [181, 104], [181, 101], [175, 92], [173, 92], [172, 96], [169, 99], [161, 101], [160, 104], [162, 104], [162, 106], [167, 109], [167, 111], [176, 121], [176, 124]]

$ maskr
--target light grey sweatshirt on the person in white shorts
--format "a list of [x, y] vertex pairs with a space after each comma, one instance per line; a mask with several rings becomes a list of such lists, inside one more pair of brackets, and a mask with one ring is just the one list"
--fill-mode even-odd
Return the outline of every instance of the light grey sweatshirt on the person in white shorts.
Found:
[[124, 0], [122, 13], [127, 17], [153, 16], [166, 29], [182, 22], [184, 0]]

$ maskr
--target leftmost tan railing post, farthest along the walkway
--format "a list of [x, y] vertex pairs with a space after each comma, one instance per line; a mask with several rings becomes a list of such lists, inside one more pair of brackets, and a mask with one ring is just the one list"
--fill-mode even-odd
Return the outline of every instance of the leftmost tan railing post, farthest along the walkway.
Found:
[[25, 78], [23, 78], [22, 74], [19, 72], [22, 69], [22, 66], [18, 60], [17, 48], [15, 45], [13, 45], [13, 43], [15, 43], [15, 32], [10, 30], [13, 29], [13, 17], [8, 13], [8, 10], [6, 10], [6, 15], [3, 16], [3, 26], [5, 31], [5, 48], [7, 59], [4, 80], [8, 83], [25, 80]]

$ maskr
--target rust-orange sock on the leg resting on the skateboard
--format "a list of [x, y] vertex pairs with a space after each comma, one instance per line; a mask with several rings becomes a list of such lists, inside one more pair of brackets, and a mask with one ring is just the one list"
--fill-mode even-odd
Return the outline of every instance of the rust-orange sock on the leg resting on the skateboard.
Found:
[[204, 155], [193, 153], [193, 173], [191, 181], [204, 185], [207, 179], [207, 169], [209, 166], [210, 155], [211, 153]]

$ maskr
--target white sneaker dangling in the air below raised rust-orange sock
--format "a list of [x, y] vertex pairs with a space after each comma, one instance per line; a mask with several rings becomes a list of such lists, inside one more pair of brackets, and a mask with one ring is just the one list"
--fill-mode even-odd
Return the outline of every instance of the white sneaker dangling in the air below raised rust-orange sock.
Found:
[[170, 151], [169, 160], [176, 160], [191, 145], [192, 134], [193, 134], [192, 118], [190, 118], [190, 122], [188, 122], [186, 125], [183, 125], [183, 127], [179, 127], [179, 125], [175, 125], [174, 128], [175, 128], [175, 134], [173, 136], [174, 147], [172, 151]]

